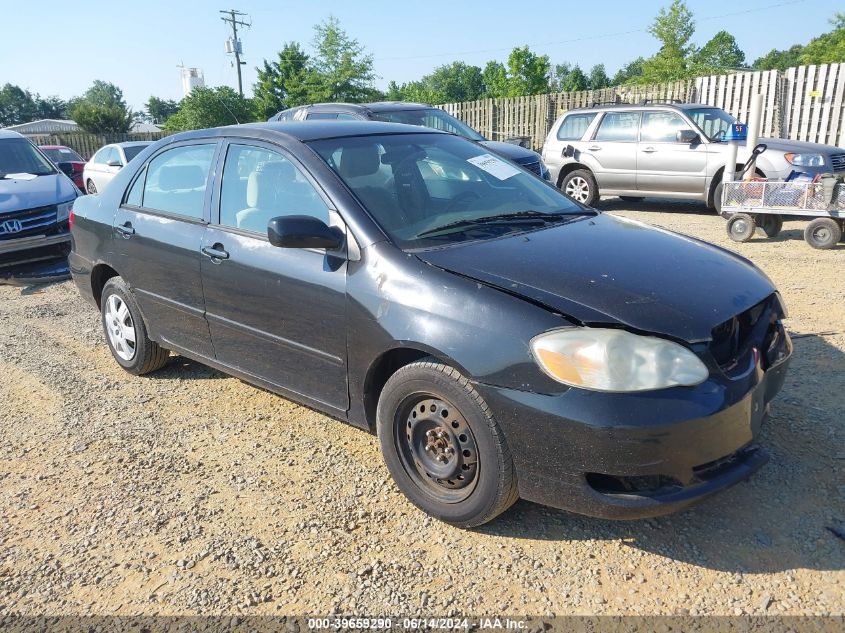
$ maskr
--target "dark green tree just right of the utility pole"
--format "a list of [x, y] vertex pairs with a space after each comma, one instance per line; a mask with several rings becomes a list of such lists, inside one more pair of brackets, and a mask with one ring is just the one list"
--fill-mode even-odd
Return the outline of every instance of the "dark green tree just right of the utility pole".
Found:
[[276, 61], [265, 59], [256, 70], [253, 100], [261, 118], [308, 102], [309, 57], [297, 42], [285, 43]]

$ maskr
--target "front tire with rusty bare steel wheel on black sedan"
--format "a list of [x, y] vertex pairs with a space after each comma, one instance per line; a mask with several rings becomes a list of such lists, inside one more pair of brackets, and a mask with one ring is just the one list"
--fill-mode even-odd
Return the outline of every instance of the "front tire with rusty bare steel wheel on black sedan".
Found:
[[468, 528], [517, 500], [504, 434], [456, 369], [434, 359], [400, 368], [381, 392], [376, 419], [393, 480], [424, 512]]

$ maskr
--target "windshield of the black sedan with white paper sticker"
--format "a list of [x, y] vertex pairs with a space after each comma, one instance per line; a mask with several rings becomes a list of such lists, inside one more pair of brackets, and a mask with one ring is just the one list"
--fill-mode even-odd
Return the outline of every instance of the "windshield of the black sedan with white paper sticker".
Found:
[[592, 214], [456, 136], [355, 136], [309, 145], [401, 248], [498, 237]]

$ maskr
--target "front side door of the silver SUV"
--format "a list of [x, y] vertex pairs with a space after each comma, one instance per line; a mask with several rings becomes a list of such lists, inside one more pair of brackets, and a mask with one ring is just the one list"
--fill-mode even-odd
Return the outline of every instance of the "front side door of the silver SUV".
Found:
[[701, 196], [707, 178], [707, 145], [683, 143], [693, 126], [671, 110], [645, 111], [637, 144], [637, 189], [644, 193]]

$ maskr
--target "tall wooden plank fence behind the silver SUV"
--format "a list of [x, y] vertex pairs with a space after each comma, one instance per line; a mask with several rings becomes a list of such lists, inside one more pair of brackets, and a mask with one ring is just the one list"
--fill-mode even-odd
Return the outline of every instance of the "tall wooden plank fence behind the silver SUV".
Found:
[[558, 92], [447, 103], [440, 107], [487, 138], [526, 139], [539, 150], [561, 113], [595, 103], [645, 99], [704, 103], [747, 121], [751, 95], [763, 95], [761, 136], [845, 146], [845, 63], [714, 75], [652, 86]]

